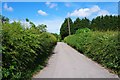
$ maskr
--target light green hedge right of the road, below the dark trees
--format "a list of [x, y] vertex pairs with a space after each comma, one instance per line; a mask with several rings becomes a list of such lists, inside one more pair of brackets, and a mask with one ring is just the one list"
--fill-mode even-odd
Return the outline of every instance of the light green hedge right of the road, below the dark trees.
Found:
[[120, 75], [118, 32], [92, 32], [85, 28], [64, 39], [66, 43]]

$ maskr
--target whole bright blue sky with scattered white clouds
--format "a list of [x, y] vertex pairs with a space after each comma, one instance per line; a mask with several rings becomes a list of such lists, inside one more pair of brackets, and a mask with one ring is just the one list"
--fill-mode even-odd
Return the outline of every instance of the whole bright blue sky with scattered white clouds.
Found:
[[[0, 9], [1, 10], [1, 9]], [[2, 2], [2, 14], [10, 20], [46, 24], [49, 32], [59, 33], [64, 19], [117, 15], [117, 2]]]

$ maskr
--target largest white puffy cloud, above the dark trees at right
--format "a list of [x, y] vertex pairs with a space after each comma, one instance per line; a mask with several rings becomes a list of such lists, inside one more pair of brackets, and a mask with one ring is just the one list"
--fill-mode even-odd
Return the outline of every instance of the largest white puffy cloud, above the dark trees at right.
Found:
[[91, 8], [80, 8], [74, 10], [72, 13], [69, 14], [69, 16], [74, 17], [90, 17], [93, 14], [97, 14], [96, 16], [101, 15], [109, 15], [110, 13], [107, 10], [102, 10], [99, 6], [94, 5]]

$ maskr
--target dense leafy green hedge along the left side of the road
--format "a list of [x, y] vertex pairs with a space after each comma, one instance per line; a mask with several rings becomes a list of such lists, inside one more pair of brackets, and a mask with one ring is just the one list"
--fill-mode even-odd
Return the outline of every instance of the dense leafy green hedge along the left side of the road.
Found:
[[19, 22], [2, 26], [3, 80], [26, 80], [37, 66], [43, 66], [57, 40], [36, 27], [24, 28]]

